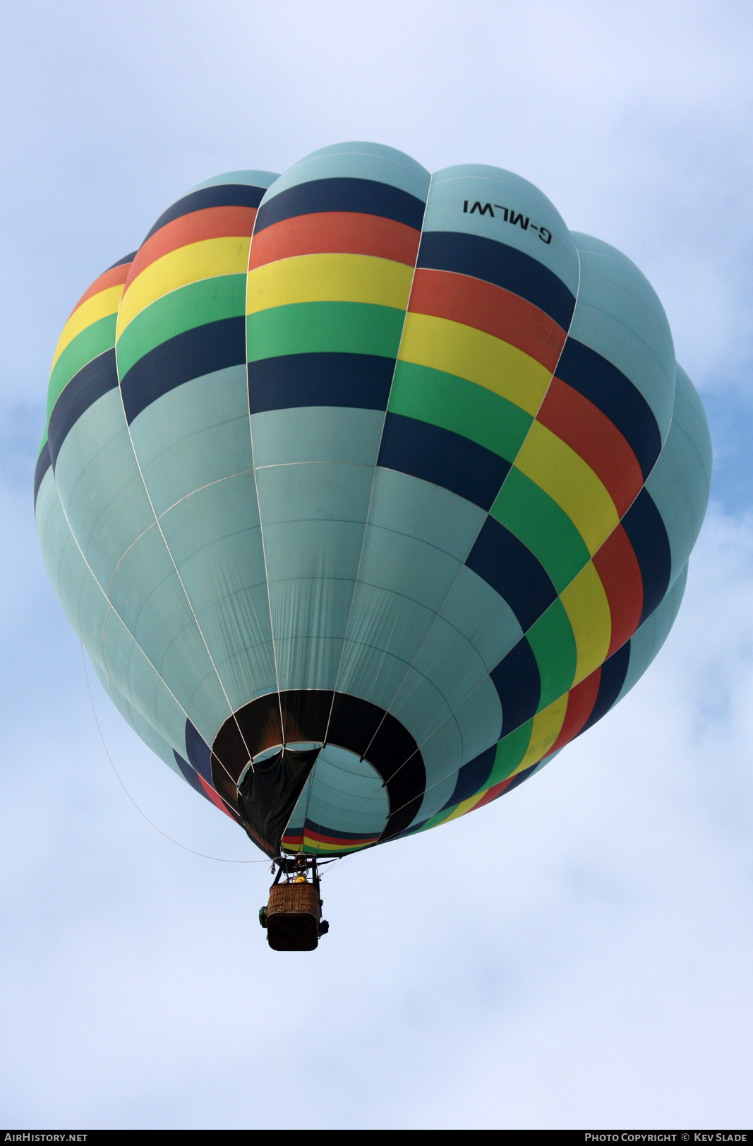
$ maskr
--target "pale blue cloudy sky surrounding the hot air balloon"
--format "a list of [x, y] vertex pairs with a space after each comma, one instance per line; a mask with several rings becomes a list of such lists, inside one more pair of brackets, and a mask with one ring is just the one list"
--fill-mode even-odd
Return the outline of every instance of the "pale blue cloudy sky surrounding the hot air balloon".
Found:
[[[0, 1124], [750, 1127], [753, 8], [26, 0], [2, 26]], [[329, 934], [276, 955], [268, 863], [89, 667], [143, 815], [118, 783], [33, 466], [92, 280], [195, 183], [354, 139], [507, 167], [634, 259], [715, 470], [634, 691], [503, 800], [332, 865]]]

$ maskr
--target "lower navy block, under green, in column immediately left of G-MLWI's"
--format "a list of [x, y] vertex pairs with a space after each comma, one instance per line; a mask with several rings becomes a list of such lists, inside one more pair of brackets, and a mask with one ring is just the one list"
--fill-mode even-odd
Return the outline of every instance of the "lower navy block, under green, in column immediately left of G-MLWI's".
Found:
[[384, 410], [394, 359], [378, 354], [280, 354], [249, 362], [252, 414], [298, 406], [350, 406]]

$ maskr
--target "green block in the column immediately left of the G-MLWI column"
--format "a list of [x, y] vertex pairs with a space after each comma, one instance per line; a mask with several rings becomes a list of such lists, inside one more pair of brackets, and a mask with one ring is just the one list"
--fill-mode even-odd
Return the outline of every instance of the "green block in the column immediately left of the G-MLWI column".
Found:
[[370, 303], [291, 303], [248, 316], [249, 361], [279, 354], [397, 358], [405, 313]]

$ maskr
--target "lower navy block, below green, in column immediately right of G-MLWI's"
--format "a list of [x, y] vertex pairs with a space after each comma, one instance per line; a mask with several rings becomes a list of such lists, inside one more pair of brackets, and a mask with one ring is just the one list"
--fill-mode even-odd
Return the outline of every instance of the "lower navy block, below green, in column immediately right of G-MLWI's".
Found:
[[494, 517], [484, 523], [465, 564], [504, 597], [524, 633], [557, 597], [539, 558]]

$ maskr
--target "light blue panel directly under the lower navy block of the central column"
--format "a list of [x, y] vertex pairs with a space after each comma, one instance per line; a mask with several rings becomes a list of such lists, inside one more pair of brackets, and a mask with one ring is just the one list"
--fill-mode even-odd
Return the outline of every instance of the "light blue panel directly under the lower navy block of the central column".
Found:
[[289, 462], [376, 465], [383, 410], [345, 406], [304, 406], [266, 410], [251, 417], [253, 461], [258, 469]]

